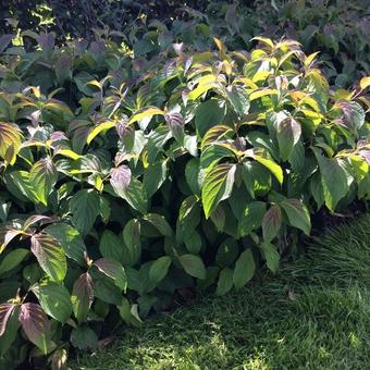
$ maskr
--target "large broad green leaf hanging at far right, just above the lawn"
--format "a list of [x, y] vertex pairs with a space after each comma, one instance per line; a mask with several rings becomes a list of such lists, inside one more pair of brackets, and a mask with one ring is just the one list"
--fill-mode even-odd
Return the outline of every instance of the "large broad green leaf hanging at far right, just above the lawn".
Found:
[[345, 197], [349, 190], [348, 174], [341, 159], [322, 157], [316, 148], [313, 152], [319, 162], [325, 205], [334, 212], [338, 201]]

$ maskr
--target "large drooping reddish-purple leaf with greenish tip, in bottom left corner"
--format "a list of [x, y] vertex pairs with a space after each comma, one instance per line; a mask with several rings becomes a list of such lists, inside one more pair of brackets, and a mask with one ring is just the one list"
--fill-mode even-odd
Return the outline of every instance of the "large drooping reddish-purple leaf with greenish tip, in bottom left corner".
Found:
[[23, 304], [18, 320], [28, 340], [47, 354], [50, 324], [41, 306], [33, 303]]

